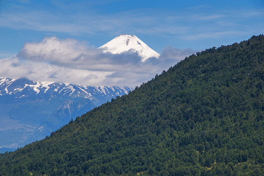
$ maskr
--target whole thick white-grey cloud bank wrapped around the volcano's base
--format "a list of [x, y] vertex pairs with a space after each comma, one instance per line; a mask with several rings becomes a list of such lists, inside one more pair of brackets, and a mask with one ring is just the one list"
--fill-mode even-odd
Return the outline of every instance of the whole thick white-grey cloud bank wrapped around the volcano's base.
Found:
[[84, 41], [45, 37], [41, 42], [26, 42], [12, 58], [0, 59], [0, 77], [26, 77], [35, 81], [87, 86], [135, 87], [196, 52], [167, 46], [159, 58], [142, 62], [134, 51], [103, 53]]

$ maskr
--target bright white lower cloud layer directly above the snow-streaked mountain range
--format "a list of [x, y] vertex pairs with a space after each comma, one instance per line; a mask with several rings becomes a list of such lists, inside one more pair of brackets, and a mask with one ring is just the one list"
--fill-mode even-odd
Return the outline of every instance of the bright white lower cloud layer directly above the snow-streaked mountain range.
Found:
[[112, 73], [21, 60], [18, 57], [0, 59], [0, 70], [0, 77], [27, 77], [35, 81], [69, 82], [81, 85], [101, 85]]

